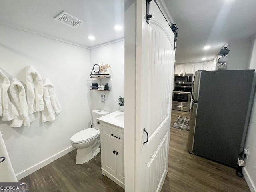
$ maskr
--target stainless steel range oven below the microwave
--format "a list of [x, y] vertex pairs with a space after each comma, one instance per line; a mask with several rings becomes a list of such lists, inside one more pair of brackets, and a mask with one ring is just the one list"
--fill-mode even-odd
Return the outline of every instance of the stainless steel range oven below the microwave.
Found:
[[190, 111], [193, 84], [175, 84], [172, 93], [172, 109]]

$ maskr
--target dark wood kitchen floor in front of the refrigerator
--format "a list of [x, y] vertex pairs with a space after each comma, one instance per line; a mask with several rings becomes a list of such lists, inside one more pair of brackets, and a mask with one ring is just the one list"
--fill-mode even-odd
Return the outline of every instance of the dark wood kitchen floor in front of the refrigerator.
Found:
[[[190, 112], [172, 110], [171, 126]], [[171, 127], [168, 173], [161, 192], [250, 192], [234, 168], [190, 154], [188, 132]]]

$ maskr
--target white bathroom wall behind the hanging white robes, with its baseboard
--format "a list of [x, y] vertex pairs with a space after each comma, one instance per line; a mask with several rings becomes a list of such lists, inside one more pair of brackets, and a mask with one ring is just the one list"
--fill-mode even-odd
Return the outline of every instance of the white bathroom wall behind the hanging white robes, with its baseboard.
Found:
[[11, 128], [10, 122], [0, 120], [18, 179], [71, 151], [70, 137], [88, 128], [92, 118], [86, 86], [91, 70], [89, 49], [0, 25], [0, 68], [25, 83], [27, 65], [54, 84], [62, 112], [52, 123], [43, 123], [38, 116], [30, 127]]

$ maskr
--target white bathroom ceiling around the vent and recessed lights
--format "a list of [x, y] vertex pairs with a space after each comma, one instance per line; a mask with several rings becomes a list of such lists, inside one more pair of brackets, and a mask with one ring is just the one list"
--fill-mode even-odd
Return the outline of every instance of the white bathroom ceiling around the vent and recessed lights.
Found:
[[[62, 11], [84, 23], [72, 28], [54, 20]], [[91, 47], [124, 37], [113, 28], [124, 26], [124, 0], [0, 0], [0, 24]]]

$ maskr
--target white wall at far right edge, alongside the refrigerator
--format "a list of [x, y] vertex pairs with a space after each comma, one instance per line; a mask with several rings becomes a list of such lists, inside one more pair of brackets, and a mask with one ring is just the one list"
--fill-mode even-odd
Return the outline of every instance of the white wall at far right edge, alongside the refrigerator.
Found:
[[[249, 68], [256, 69], [256, 39], [252, 41]], [[256, 191], [256, 96], [254, 97], [254, 104], [252, 106], [252, 114], [249, 123], [249, 129], [246, 139], [245, 148], [248, 150], [248, 159], [245, 160], [244, 177], [248, 183], [251, 191]]]

